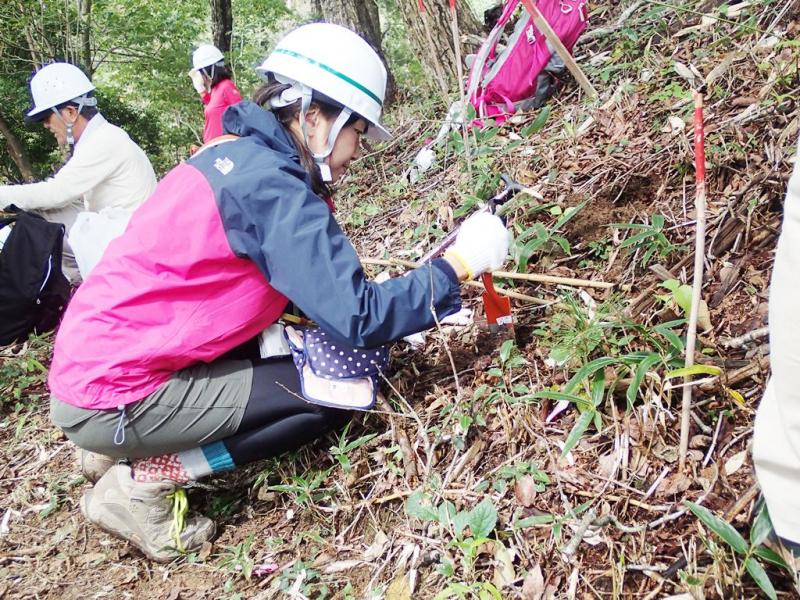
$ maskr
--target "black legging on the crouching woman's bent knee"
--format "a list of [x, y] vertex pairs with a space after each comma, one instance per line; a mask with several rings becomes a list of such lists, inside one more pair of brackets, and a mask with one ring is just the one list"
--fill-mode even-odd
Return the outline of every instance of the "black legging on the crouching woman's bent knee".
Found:
[[306, 402], [291, 359], [254, 360], [253, 387], [236, 435], [223, 441], [237, 466], [277, 456], [343, 427], [352, 412]]

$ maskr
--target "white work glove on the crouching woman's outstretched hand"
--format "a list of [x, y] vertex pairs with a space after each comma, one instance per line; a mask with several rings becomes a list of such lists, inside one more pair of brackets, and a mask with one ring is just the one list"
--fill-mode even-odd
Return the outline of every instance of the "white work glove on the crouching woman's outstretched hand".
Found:
[[459, 263], [473, 279], [486, 271], [496, 271], [508, 257], [509, 234], [500, 217], [477, 212], [461, 224], [455, 243], [445, 257]]

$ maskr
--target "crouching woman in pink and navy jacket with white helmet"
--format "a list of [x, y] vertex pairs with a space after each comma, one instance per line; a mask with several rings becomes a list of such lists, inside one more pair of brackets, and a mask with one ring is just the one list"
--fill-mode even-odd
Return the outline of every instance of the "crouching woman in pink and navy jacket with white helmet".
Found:
[[[50, 417], [97, 479], [81, 510], [153, 560], [214, 534], [201, 516], [173, 528], [184, 485], [298, 448], [350, 417], [306, 401], [290, 358], [232, 350], [291, 301], [331, 340], [337, 354], [326, 358], [359, 368], [376, 347], [457, 312], [459, 282], [499, 268], [508, 252], [500, 219], [478, 213], [445, 257], [369, 281], [323, 197], [360, 156], [361, 136], [390, 138], [380, 58], [355, 33], [313, 23], [258, 72], [254, 101], [225, 111], [228, 138], [164, 176], [72, 298], [55, 341]], [[361, 357], [345, 357], [345, 346]]]

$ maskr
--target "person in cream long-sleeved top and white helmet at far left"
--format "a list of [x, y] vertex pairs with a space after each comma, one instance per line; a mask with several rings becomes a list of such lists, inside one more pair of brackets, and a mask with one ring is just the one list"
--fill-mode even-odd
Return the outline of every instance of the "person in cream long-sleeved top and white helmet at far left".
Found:
[[97, 111], [94, 85], [78, 67], [49, 64], [34, 75], [30, 89], [27, 119], [43, 123], [72, 155], [46, 181], [0, 186], [0, 210], [15, 204], [63, 223], [64, 272], [75, 281], [76, 259], [85, 277], [155, 189], [156, 176], [144, 151]]

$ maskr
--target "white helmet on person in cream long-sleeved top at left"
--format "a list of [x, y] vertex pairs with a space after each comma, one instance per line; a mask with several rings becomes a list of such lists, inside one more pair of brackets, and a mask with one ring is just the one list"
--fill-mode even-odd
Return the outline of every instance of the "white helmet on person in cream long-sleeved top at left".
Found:
[[39, 70], [30, 83], [33, 108], [28, 111], [29, 119], [43, 116], [46, 110], [55, 109], [65, 102], [74, 101], [78, 111], [84, 106], [95, 106], [97, 100], [87, 96], [94, 85], [75, 65], [52, 63]]

